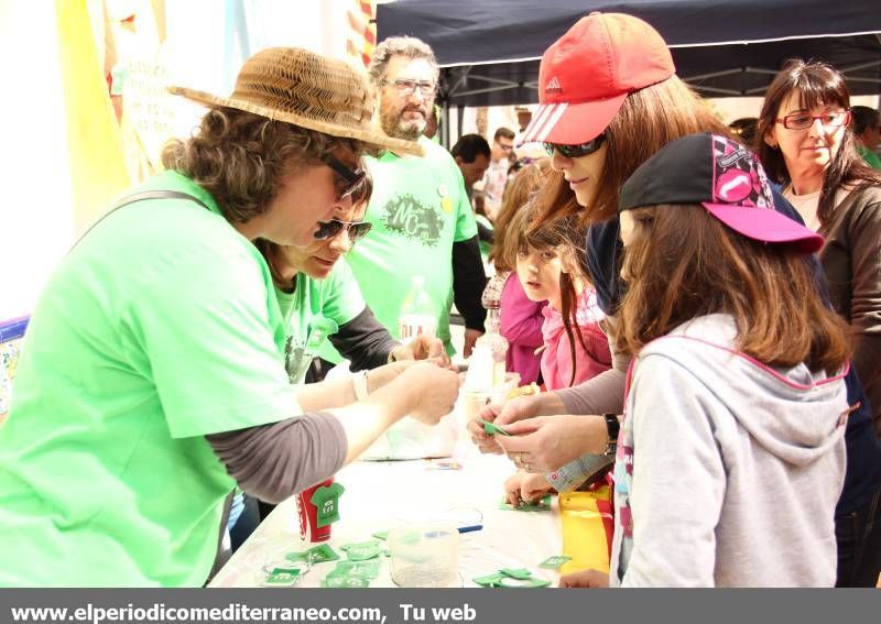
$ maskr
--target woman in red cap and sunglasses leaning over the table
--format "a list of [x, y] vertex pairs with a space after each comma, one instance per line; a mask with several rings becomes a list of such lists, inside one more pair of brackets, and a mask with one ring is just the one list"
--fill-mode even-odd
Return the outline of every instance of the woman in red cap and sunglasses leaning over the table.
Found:
[[[725, 136], [728, 131], [676, 77], [661, 35], [631, 15], [591, 13], [555, 42], [542, 57], [540, 99], [542, 106], [524, 140], [544, 142], [553, 153], [556, 172], [540, 201], [547, 218], [575, 212], [588, 225], [588, 270], [600, 307], [608, 315], [607, 328], [612, 328], [626, 292], [617, 218], [621, 186], [671, 141], [707, 131]], [[779, 191], [772, 193], [774, 208], [801, 222]], [[819, 266], [815, 269], [819, 276]], [[496, 419], [511, 433], [534, 431], [505, 438], [509, 455], [532, 470], [553, 471], [573, 462], [563, 471], [567, 482], [577, 484], [581, 453], [614, 452], [614, 415], [623, 408], [630, 359], [614, 349], [612, 353], [614, 368], [580, 386], [490, 405], [478, 416]], [[846, 382], [850, 404], [860, 403], [862, 387], [852, 370]], [[559, 414], [566, 416], [548, 417]], [[573, 416], [598, 414], [603, 416]], [[864, 458], [866, 449], [873, 446], [867, 438], [869, 431], [856, 428], [866, 418], [870, 415], [861, 405], [848, 419], [850, 457], [853, 451]], [[481, 450], [501, 452], [498, 441], [488, 438], [481, 427], [470, 424], [469, 429]], [[864, 497], [872, 492], [873, 484], [863, 483], [848, 461], [842, 500], [849, 493]]]

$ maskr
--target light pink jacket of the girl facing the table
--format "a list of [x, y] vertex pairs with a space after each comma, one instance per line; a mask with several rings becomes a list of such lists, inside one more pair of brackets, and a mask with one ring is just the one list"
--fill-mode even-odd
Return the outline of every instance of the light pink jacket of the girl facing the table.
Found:
[[[597, 292], [588, 288], [578, 300], [576, 317], [581, 329], [587, 350], [575, 335], [575, 381], [569, 383], [573, 371], [573, 359], [569, 353], [569, 338], [563, 327], [563, 316], [552, 306], [542, 311], [544, 325], [545, 350], [542, 352], [542, 376], [547, 390], [559, 390], [577, 385], [587, 381], [612, 366], [612, 357], [609, 351], [609, 341], [599, 327], [605, 318], [602, 310], [597, 305]], [[573, 328], [573, 331], [575, 329]]]

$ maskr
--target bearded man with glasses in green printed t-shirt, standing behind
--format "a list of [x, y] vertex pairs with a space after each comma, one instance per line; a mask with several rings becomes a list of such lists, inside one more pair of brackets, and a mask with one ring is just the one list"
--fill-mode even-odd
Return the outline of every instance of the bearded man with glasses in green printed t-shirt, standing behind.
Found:
[[[437, 337], [452, 354], [452, 298], [465, 319], [468, 357], [483, 331], [486, 275], [461, 174], [449, 153], [423, 135], [439, 74], [434, 52], [418, 39], [389, 37], [377, 46], [368, 73], [382, 130], [418, 141], [425, 155], [387, 151], [365, 158], [376, 189], [365, 215], [372, 229], [347, 261], [365, 300], [396, 339], [401, 307], [414, 282], [422, 280]], [[339, 361], [338, 355], [323, 355]]]

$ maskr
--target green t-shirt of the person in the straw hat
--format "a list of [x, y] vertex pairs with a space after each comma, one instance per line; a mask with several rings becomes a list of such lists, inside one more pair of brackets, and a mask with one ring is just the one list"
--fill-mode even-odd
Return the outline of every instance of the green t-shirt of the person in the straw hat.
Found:
[[301, 413], [258, 250], [165, 172], [67, 254], [0, 428], [0, 585], [200, 585], [233, 480], [206, 434]]

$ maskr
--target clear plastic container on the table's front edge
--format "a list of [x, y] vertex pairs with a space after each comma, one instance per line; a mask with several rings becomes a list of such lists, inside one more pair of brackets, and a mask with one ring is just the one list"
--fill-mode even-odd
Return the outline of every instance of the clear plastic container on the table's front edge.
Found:
[[448, 588], [459, 580], [459, 532], [452, 525], [418, 525], [389, 534], [391, 571], [402, 588]]

